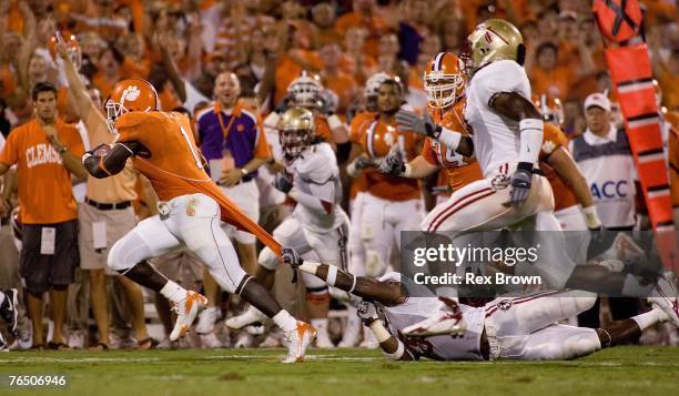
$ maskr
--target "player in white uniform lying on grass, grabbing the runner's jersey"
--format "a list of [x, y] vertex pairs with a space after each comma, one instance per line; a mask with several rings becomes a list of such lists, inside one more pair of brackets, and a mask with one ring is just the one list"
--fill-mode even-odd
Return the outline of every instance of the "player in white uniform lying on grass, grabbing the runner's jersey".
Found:
[[[355, 276], [328, 264], [303, 261], [294, 248], [283, 248], [283, 261], [316, 275], [330, 286], [363, 297], [359, 316], [384, 353], [397, 361], [480, 361], [499, 357], [540, 361], [568, 359], [638, 337], [659, 322], [679, 326], [677, 281], [666, 293], [649, 298], [653, 308], [602, 328], [556, 324], [589, 309], [596, 296], [579, 291], [547, 291], [524, 297], [496, 298], [484, 307], [457, 304], [445, 297], [409, 296], [417, 285], [388, 273], [379, 280]], [[673, 293], [667, 294], [667, 291]], [[422, 291], [417, 295], [426, 295]], [[379, 319], [384, 309], [387, 325]]]

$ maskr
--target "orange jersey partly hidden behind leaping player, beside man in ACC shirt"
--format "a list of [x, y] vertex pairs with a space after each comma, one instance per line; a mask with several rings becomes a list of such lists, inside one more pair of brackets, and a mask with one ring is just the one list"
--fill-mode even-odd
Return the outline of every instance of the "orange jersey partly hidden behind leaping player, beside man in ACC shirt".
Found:
[[560, 211], [566, 207], [576, 205], [578, 202], [570, 191], [570, 187], [556, 173], [554, 167], [549, 166], [547, 159], [559, 148], [565, 146], [568, 150], [568, 138], [561, 132], [561, 130], [554, 124], [545, 124], [545, 134], [543, 136], [543, 146], [540, 148], [540, 170], [545, 173], [545, 176], [551, 184], [551, 191], [554, 192], [554, 211]]

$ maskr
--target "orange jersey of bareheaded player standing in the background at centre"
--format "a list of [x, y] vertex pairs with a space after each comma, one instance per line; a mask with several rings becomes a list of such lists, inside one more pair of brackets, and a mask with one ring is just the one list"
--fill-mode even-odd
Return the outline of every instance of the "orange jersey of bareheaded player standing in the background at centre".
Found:
[[[417, 156], [422, 136], [413, 132], [401, 132], [396, 124], [387, 124], [376, 115], [371, 122], [364, 122], [357, 133], [349, 135], [349, 141], [357, 143], [371, 158], [383, 158], [395, 144], [401, 146], [406, 160]], [[367, 191], [383, 200], [408, 201], [420, 197], [419, 183], [414, 179], [396, 177], [375, 170], [365, 172]]]

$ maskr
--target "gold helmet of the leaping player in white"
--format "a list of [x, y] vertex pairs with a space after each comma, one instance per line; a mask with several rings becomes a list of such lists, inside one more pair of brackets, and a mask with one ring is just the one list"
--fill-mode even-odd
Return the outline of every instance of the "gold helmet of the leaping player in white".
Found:
[[466, 50], [460, 58], [473, 74], [482, 67], [499, 60], [524, 63], [526, 48], [518, 29], [504, 19], [489, 19], [479, 23], [467, 37]]

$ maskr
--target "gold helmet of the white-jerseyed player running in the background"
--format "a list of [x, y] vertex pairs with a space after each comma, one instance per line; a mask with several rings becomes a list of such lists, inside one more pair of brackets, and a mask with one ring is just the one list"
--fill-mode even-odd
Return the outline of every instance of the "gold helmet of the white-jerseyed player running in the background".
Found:
[[304, 108], [292, 108], [278, 121], [278, 140], [288, 160], [297, 158], [314, 140], [314, 114]]

